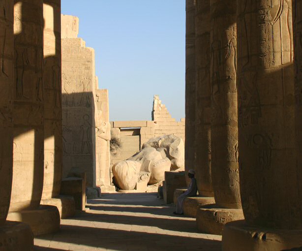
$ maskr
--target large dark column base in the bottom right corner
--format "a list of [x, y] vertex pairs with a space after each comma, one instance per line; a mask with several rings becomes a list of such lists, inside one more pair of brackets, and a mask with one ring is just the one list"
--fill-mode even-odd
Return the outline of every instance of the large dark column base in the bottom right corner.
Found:
[[295, 251], [302, 250], [302, 230], [251, 227], [244, 220], [225, 225], [223, 251]]

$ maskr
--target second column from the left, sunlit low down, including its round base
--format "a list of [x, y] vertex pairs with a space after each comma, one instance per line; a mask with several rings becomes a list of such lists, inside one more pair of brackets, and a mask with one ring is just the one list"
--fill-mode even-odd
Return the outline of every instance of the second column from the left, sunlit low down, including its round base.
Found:
[[8, 220], [35, 235], [59, 230], [56, 207], [39, 207], [44, 176], [43, 1], [14, 1], [13, 183]]

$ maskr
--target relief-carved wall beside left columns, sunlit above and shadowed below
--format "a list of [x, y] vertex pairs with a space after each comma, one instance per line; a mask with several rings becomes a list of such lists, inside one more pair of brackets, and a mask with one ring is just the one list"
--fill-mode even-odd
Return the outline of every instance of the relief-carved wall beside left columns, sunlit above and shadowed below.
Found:
[[79, 169], [87, 173], [88, 187], [96, 185], [94, 87], [94, 50], [81, 38], [63, 38], [63, 177], [71, 169]]

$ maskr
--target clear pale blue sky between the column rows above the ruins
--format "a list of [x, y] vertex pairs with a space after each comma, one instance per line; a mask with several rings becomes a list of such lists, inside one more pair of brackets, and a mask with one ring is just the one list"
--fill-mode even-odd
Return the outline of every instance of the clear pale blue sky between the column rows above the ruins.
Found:
[[185, 0], [62, 0], [95, 50], [110, 120], [151, 120], [153, 94], [184, 118]]

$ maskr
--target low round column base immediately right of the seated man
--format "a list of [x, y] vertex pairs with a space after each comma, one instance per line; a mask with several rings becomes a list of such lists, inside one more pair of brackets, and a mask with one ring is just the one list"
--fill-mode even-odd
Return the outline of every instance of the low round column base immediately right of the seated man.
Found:
[[197, 210], [205, 205], [214, 204], [213, 197], [186, 197], [183, 201], [183, 214], [196, 218]]

